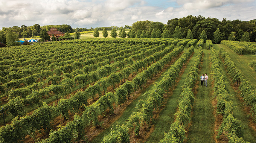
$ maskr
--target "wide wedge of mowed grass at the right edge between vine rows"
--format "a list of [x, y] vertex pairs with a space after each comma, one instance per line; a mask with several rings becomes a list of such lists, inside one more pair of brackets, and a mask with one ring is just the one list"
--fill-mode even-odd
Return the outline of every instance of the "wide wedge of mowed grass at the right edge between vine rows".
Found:
[[235, 52], [233, 52], [229, 47], [217, 44], [218, 47], [222, 47], [225, 49], [225, 51], [229, 54], [231, 60], [235, 62], [236, 67], [241, 70], [242, 75], [244, 75], [244, 78], [246, 78], [250, 83], [253, 85], [254, 88], [256, 88], [256, 72], [251, 68], [248, 64], [256, 59], [256, 55], [251, 54], [245, 54], [245, 55], [237, 55]]

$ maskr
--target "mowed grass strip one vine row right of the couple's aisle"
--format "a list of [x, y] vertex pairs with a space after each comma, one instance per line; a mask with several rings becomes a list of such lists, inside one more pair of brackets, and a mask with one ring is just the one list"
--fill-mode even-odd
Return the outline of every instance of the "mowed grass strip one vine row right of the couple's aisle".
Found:
[[[214, 44], [217, 54], [219, 53], [219, 47], [223, 47], [223, 46], [224, 45]], [[229, 55], [229, 56], [231, 57], [231, 55]], [[222, 59], [221, 59], [221, 61], [222, 61]], [[234, 61], [234, 60], [232, 59], [232, 61]], [[238, 66], [238, 64], [236, 64], [236, 66]], [[226, 69], [224, 68], [223, 62], [221, 63], [221, 68], [222, 68], [223, 73], [226, 75], [226, 82], [228, 82], [228, 84], [226, 84], [226, 86], [229, 91], [229, 94], [232, 95], [230, 97], [230, 100], [232, 101], [233, 107], [234, 107], [234, 109], [233, 109], [234, 117], [241, 121], [241, 125], [244, 128], [243, 139], [245, 141], [248, 141], [251, 143], [256, 143], [256, 131], [250, 126], [251, 117], [250, 116], [248, 117], [247, 116], [248, 114], [245, 113], [245, 111], [244, 111], [245, 105], [243, 105], [243, 103], [240, 101], [239, 97], [237, 96], [238, 93], [232, 87], [233, 84], [230, 82], [230, 78], [227, 77]], [[242, 72], [242, 70], [241, 70], [241, 72]], [[254, 124], [252, 124], [252, 125], [254, 125]], [[254, 128], [255, 128], [255, 126], [254, 126]]]

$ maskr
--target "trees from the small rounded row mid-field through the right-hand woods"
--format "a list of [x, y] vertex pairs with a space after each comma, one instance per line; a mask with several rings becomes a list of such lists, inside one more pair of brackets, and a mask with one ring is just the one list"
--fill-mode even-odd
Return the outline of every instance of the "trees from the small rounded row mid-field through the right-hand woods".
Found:
[[[111, 30], [110, 36], [121, 38], [187, 38], [187, 39], [209, 39], [213, 43], [220, 43], [222, 40], [248, 41], [256, 40], [256, 20], [241, 21], [227, 20], [223, 18], [205, 18], [201, 15], [189, 15], [183, 18], [168, 20], [167, 24], [153, 21], [137, 21], [132, 24], [131, 29], [124, 33], [127, 28], [119, 27]], [[94, 29], [94, 37], [99, 37], [98, 30]], [[106, 27], [103, 29], [103, 36], [107, 37]], [[119, 30], [119, 34], [117, 31]]]

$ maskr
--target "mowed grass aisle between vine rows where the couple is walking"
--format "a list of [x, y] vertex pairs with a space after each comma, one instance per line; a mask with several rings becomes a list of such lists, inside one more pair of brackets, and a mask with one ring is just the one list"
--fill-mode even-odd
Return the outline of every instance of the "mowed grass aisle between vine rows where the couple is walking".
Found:
[[[203, 50], [203, 62], [199, 75], [207, 73], [207, 87], [201, 87], [198, 83], [197, 94], [192, 108], [192, 125], [188, 131], [187, 143], [214, 143], [214, 123], [215, 117], [212, 106], [212, 75], [210, 74], [210, 50]], [[198, 77], [199, 81], [199, 77]]]

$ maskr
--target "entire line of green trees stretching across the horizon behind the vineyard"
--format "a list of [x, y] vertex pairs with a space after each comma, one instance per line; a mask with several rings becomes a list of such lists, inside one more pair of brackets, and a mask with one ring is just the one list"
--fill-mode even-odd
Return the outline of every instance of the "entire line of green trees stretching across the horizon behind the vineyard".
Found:
[[[167, 24], [162, 22], [153, 21], [137, 21], [132, 26], [125, 25], [124, 27], [110, 26], [110, 27], [97, 27], [90, 29], [87, 28], [75, 28], [67, 24], [62, 25], [47, 25], [40, 26], [35, 24], [34, 26], [20, 27], [3, 27], [0, 30], [0, 42], [6, 43], [6, 33], [8, 30], [17, 33], [18, 38], [39, 36], [41, 30], [49, 31], [50, 28], [56, 27], [60, 32], [82, 32], [95, 30], [125, 30], [129, 29], [129, 32], [121, 33], [117, 35], [116, 32], [112, 32], [113, 37], [130, 37], [130, 38], [195, 38], [201, 39], [201, 33], [205, 32], [205, 37], [212, 40], [213, 43], [220, 43], [221, 40], [232, 41], [249, 41], [255, 42], [256, 40], [256, 20], [241, 21], [241, 20], [227, 20], [223, 18], [219, 21], [217, 18], [205, 18], [201, 15], [192, 16], [188, 15], [183, 18], [173, 18], [168, 20]], [[107, 33], [105, 33], [106, 35]], [[98, 33], [96, 33], [95, 37]], [[111, 36], [111, 37], [112, 37]], [[105, 37], [105, 36], [104, 36]], [[107, 36], [106, 36], [107, 37]]]

